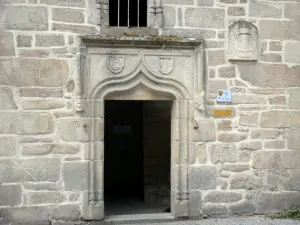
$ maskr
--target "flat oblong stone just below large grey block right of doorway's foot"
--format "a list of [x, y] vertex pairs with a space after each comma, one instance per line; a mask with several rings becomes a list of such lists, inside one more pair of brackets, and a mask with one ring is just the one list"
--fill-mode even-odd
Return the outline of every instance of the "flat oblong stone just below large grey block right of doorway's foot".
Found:
[[228, 203], [237, 202], [242, 198], [243, 195], [237, 192], [212, 191], [205, 195], [203, 202]]

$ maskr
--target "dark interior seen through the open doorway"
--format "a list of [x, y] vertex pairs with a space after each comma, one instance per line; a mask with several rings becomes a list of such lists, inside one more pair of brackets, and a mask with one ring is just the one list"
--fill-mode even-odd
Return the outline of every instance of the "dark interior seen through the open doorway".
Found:
[[105, 101], [105, 215], [170, 212], [171, 101]]

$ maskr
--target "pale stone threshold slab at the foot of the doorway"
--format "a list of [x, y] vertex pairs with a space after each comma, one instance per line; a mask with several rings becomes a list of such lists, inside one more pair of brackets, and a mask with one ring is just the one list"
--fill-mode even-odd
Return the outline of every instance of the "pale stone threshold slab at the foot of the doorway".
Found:
[[166, 222], [175, 221], [175, 218], [170, 213], [151, 213], [151, 214], [130, 214], [130, 215], [115, 215], [105, 217], [103, 222], [107, 223], [149, 223], [149, 222]]

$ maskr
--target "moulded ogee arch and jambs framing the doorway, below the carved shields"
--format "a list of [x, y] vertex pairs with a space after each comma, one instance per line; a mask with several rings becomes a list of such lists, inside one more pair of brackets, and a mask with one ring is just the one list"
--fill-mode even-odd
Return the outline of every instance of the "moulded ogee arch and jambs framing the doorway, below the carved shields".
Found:
[[[94, 39], [92, 46], [95, 48]], [[116, 41], [114, 47], [124, 46], [124, 41]], [[147, 41], [149, 42], [149, 41]], [[87, 42], [90, 43], [90, 42]], [[103, 47], [102, 41], [99, 48]], [[98, 43], [98, 44], [99, 44]], [[156, 42], [155, 42], [156, 43]], [[111, 43], [110, 43], [111, 44]], [[135, 45], [140, 42], [135, 43]], [[142, 43], [143, 45], [145, 43]], [[152, 48], [161, 48], [161, 43]], [[174, 45], [177, 48], [181, 45]], [[199, 42], [191, 49], [199, 47]], [[105, 42], [104, 46], [107, 46]], [[132, 47], [132, 41], [128, 43]], [[77, 85], [86, 82], [82, 77], [88, 77], [89, 72], [89, 45], [85, 43], [84, 48], [80, 48], [78, 60]], [[201, 57], [200, 57], [201, 58]], [[201, 61], [199, 58], [199, 61]], [[196, 59], [198, 59], [196, 57]], [[84, 76], [82, 76], [84, 75]], [[194, 75], [193, 75], [194, 76]], [[84, 90], [85, 87], [79, 88]], [[136, 91], [138, 90], [138, 91]], [[142, 94], [140, 94], [142, 92]], [[84, 92], [87, 92], [86, 90]], [[139, 93], [139, 94], [137, 94]], [[84, 94], [84, 93], [82, 93]], [[152, 74], [145, 63], [141, 61], [134, 72], [125, 77], [111, 77], [105, 79], [95, 86], [90, 94], [84, 96], [86, 108], [82, 113], [83, 117], [91, 120], [90, 141], [86, 153], [88, 160], [88, 190], [83, 196], [83, 218], [86, 220], [104, 219], [104, 104], [105, 100], [171, 100], [173, 101], [171, 110], [171, 214], [174, 217], [190, 217], [194, 215], [190, 210], [191, 201], [188, 187], [188, 158], [195, 146], [193, 140], [194, 126], [194, 100], [193, 95], [187, 87], [175, 79], [164, 77], [163, 79]]]

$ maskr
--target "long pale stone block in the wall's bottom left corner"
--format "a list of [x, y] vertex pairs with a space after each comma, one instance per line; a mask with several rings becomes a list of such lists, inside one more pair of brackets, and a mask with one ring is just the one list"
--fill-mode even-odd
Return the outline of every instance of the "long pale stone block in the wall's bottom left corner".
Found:
[[11, 224], [49, 224], [48, 206], [4, 208], [0, 213], [3, 221]]

